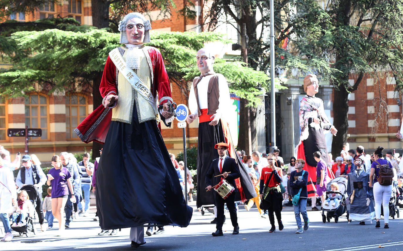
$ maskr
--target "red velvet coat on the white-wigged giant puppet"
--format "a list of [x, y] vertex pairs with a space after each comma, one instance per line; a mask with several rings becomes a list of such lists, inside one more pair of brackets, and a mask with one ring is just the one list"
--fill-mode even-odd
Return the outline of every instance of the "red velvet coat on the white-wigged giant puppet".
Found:
[[[162, 55], [160, 51], [154, 47], [148, 47], [147, 50], [150, 54], [154, 73], [154, 81], [151, 87], [151, 91], [154, 97], [156, 97], [157, 92], [159, 97], [171, 97], [168, 74], [166, 73], [164, 60], [162, 60]], [[116, 66], [109, 58], [109, 56], [106, 60], [104, 73], [102, 74], [100, 93], [104, 100], [105, 97], [111, 93], [118, 95], [116, 87]], [[104, 100], [102, 101], [102, 103], [104, 103]], [[108, 133], [110, 121], [112, 118], [112, 112], [110, 112], [110, 110], [113, 107], [114, 106], [110, 108], [104, 108], [103, 105], [100, 105], [93, 112], [91, 112], [91, 114], [89, 114], [87, 118], [83, 120], [83, 122], [79, 124], [79, 126], [74, 131], [83, 142], [105, 142], [106, 134]]]

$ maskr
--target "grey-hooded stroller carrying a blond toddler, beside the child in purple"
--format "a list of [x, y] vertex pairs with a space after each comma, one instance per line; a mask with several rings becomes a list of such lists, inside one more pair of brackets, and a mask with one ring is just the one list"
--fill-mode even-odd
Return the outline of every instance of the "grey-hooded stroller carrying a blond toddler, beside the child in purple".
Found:
[[[339, 191], [340, 192], [334, 192], [332, 191], [332, 188], [330, 187], [330, 184], [336, 182], [339, 185]], [[347, 198], [347, 179], [344, 177], [337, 177], [332, 179], [326, 186], [326, 199], [328, 199], [328, 195], [330, 193], [336, 193], [341, 195], [341, 199], [337, 201], [336, 206], [332, 205], [322, 205], [322, 221], [323, 223], [330, 222], [331, 218], [334, 218], [334, 222], [339, 222], [339, 217], [344, 214], [347, 211], [346, 207], [346, 198]], [[326, 212], [326, 215], [325, 215]], [[347, 218], [348, 212], [347, 212]]]

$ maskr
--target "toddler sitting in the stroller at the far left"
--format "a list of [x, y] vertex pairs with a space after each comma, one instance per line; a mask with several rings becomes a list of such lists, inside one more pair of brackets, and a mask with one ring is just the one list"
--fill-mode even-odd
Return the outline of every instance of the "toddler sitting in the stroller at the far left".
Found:
[[27, 191], [21, 190], [18, 194], [17, 205], [14, 206], [12, 212], [11, 227], [21, 227], [27, 224], [27, 217], [33, 216], [33, 204], [29, 200]]

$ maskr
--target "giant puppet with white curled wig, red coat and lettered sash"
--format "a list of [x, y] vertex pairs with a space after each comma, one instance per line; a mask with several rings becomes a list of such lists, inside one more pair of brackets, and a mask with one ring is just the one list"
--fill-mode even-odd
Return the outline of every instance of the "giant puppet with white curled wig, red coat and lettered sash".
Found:
[[150, 29], [150, 21], [137, 12], [120, 21], [124, 45], [106, 60], [102, 106], [75, 130], [85, 143], [104, 143], [97, 170], [97, 183], [104, 185], [96, 188], [101, 228], [131, 227], [134, 247], [145, 243], [143, 224], [186, 227], [192, 216], [158, 129], [160, 114], [172, 116], [166, 104], [172, 98], [160, 51], [144, 45]]

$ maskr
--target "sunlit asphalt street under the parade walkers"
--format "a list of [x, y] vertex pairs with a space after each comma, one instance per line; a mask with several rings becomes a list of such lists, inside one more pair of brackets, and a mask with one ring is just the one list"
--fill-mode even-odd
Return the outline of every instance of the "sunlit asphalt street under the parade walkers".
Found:
[[[195, 203], [191, 204], [195, 209]], [[196, 210], [196, 209], [195, 209]], [[94, 211], [92, 209], [91, 211]], [[284, 230], [269, 233], [268, 219], [260, 218], [256, 207], [247, 212], [243, 205], [239, 207], [239, 234], [232, 235], [233, 227], [226, 213], [224, 236], [213, 237], [214, 218], [206, 211], [193, 212], [187, 228], [167, 226], [163, 234], [146, 237], [147, 244], [138, 250], [166, 251], [223, 251], [223, 250], [313, 250], [313, 251], [355, 251], [384, 247], [382, 251], [403, 250], [403, 219], [389, 220], [389, 229], [375, 228], [375, 224], [361, 226], [358, 222], [347, 223], [345, 216], [339, 223], [322, 223], [321, 212], [308, 212], [310, 229], [303, 234], [295, 234], [296, 225], [292, 207], [283, 209]], [[56, 237], [55, 230], [40, 232], [36, 236], [17, 237], [11, 242], [0, 243], [0, 250], [133, 250], [128, 240], [129, 229], [122, 229], [115, 236], [98, 236], [99, 223], [94, 222], [94, 213], [90, 217], [80, 217], [71, 222], [64, 237]], [[45, 224], [46, 225], [46, 224]], [[39, 224], [37, 225], [39, 226]], [[58, 226], [56, 222], [54, 226]], [[383, 226], [383, 222], [381, 224]], [[56, 229], [56, 228], [55, 228]]]

